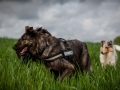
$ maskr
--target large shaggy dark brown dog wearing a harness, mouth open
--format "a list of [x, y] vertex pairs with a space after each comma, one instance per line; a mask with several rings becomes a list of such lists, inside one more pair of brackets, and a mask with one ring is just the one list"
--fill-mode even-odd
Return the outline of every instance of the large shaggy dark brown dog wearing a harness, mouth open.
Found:
[[[18, 57], [44, 59], [44, 64], [55, 78], [59, 76], [60, 81], [65, 76], [71, 76], [74, 71], [89, 71], [92, 73], [92, 66], [87, 46], [79, 40], [64, 40], [53, 37], [47, 30], [26, 26], [26, 32], [13, 46]], [[65, 56], [65, 51], [73, 54]], [[68, 54], [69, 52], [67, 52]]]

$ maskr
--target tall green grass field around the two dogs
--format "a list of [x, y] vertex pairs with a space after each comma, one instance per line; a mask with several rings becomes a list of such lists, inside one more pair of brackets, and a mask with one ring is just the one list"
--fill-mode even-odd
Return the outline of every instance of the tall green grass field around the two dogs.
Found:
[[60, 83], [39, 61], [22, 63], [12, 49], [16, 41], [0, 38], [0, 90], [120, 90], [120, 52], [116, 69], [103, 69], [99, 62], [100, 43], [87, 42], [93, 76], [73, 74]]

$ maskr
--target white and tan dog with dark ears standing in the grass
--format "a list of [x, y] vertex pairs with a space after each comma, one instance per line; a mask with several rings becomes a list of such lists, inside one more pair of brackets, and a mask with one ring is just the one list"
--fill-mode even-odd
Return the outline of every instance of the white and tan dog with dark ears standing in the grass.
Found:
[[120, 51], [119, 45], [114, 45], [112, 41], [101, 41], [100, 63], [102, 67], [106, 67], [107, 65], [116, 66], [118, 59], [116, 50]]

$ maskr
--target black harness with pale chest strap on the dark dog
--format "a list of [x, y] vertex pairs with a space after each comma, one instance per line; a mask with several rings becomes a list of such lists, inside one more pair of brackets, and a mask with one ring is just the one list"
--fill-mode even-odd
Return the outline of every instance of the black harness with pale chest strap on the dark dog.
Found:
[[55, 55], [50, 56], [49, 58], [45, 58], [44, 59], [45, 61], [54, 61], [55, 59], [58, 59], [58, 58], [64, 58], [70, 62], [73, 60], [74, 54], [72, 49], [69, 47], [67, 41], [62, 38], [59, 38], [59, 40], [63, 50]]

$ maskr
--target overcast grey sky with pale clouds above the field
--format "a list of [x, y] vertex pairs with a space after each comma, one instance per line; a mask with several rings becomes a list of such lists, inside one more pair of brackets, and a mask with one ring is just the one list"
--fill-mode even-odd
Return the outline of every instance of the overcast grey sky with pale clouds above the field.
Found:
[[64, 39], [113, 40], [120, 35], [120, 0], [0, 0], [0, 37], [20, 38], [25, 26]]

